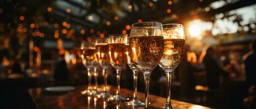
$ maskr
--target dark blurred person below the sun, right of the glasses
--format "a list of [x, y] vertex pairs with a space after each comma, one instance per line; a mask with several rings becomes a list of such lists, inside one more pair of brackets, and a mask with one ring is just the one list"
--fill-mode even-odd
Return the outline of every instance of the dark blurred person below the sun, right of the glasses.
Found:
[[220, 77], [227, 73], [218, 64], [215, 59], [215, 50], [211, 46], [204, 47], [200, 56], [200, 62], [204, 64], [207, 76], [207, 84], [210, 89], [219, 89]]

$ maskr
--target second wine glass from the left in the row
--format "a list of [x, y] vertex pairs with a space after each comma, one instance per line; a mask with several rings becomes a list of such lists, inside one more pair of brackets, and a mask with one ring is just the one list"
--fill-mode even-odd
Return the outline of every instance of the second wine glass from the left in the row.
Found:
[[109, 41], [109, 38], [98, 38], [96, 39], [95, 43], [95, 54], [96, 59], [98, 60], [99, 64], [103, 67], [103, 77], [104, 77], [104, 87], [103, 87], [103, 93], [101, 93], [101, 96], [103, 98], [109, 98], [111, 94], [107, 93], [107, 67], [109, 66], [109, 52], [108, 52], [108, 46], [107, 42]]

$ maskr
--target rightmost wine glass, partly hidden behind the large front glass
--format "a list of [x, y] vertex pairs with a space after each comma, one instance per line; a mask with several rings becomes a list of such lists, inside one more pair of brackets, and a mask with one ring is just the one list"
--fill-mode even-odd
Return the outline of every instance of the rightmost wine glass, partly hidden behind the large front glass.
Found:
[[164, 50], [160, 60], [160, 67], [167, 76], [167, 102], [163, 108], [173, 108], [170, 103], [170, 82], [172, 72], [177, 68], [184, 56], [185, 35], [183, 26], [180, 24], [163, 25]]

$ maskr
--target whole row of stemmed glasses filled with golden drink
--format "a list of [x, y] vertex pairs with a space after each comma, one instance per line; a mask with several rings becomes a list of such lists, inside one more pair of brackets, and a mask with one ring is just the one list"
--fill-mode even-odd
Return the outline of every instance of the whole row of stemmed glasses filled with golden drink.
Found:
[[[163, 108], [173, 108], [170, 104], [170, 80], [172, 72], [177, 68], [184, 56], [185, 35], [180, 24], [162, 25], [158, 22], [140, 22], [132, 25], [129, 35], [114, 34], [108, 38], [88, 40], [81, 44], [83, 64], [88, 70], [88, 90], [86, 93], [101, 95], [108, 100], [128, 100], [120, 94], [120, 77], [124, 65], [128, 64], [133, 71], [133, 99], [125, 102], [127, 106], [144, 106], [149, 108], [150, 74], [157, 65], [166, 72], [167, 103]], [[107, 93], [107, 67], [109, 63], [117, 74], [117, 90], [115, 95]], [[91, 88], [92, 75], [97, 80], [98, 65], [103, 68], [104, 91], [97, 91], [98, 84]], [[91, 71], [93, 70], [93, 71]], [[145, 81], [145, 104], [136, 98], [138, 71], [143, 72]], [[93, 72], [93, 73], [91, 73]]]

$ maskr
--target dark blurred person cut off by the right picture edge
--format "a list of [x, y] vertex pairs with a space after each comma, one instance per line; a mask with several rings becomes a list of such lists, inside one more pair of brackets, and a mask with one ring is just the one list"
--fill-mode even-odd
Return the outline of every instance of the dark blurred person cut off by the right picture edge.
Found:
[[245, 64], [245, 71], [246, 71], [246, 81], [251, 85], [256, 85], [256, 44], [255, 40], [252, 41], [252, 51], [253, 53], [250, 54], [246, 60], [244, 61]]

